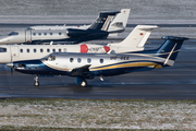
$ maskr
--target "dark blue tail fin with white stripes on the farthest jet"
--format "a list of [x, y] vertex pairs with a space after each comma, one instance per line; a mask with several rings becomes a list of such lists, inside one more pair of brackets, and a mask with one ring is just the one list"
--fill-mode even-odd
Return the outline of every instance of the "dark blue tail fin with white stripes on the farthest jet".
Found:
[[120, 13], [119, 11], [105, 11], [100, 12], [97, 20], [89, 26], [88, 29], [108, 31], [108, 27], [113, 17]]

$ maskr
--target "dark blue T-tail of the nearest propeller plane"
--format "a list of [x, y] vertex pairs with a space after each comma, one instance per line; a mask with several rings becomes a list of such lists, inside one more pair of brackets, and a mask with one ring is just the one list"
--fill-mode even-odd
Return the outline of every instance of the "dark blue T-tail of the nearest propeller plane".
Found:
[[157, 49], [156, 56], [164, 58], [163, 66], [173, 66], [185, 37], [164, 36], [166, 41]]

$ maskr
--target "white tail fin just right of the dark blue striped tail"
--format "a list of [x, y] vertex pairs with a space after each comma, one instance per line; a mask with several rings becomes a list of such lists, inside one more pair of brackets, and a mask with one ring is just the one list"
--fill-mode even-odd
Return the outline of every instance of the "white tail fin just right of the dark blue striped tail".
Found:
[[[121, 13], [117, 14], [111, 24], [109, 25], [108, 32], [121, 33], [125, 29], [128, 20], [131, 9], [122, 9]], [[113, 34], [111, 34], [113, 35]], [[118, 34], [115, 34], [118, 35]]]

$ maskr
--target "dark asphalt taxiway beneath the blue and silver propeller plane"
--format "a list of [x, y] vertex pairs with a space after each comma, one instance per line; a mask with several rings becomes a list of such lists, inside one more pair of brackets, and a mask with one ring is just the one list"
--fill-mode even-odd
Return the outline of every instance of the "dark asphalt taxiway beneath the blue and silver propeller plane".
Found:
[[[148, 40], [147, 49], [162, 40]], [[88, 87], [75, 85], [74, 78], [39, 78], [13, 72], [0, 64], [1, 98], [89, 98], [89, 99], [196, 99], [196, 43], [184, 43], [173, 67], [119, 76], [87, 80]]]

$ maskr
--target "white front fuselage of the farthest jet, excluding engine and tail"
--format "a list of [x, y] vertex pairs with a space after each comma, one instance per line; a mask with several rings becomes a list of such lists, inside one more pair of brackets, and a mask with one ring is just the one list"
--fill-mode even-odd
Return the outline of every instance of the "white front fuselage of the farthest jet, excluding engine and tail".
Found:
[[0, 39], [0, 44], [50, 43], [74, 40], [68, 36], [68, 28], [87, 29], [88, 26], [33, 26], [10, 33]]

